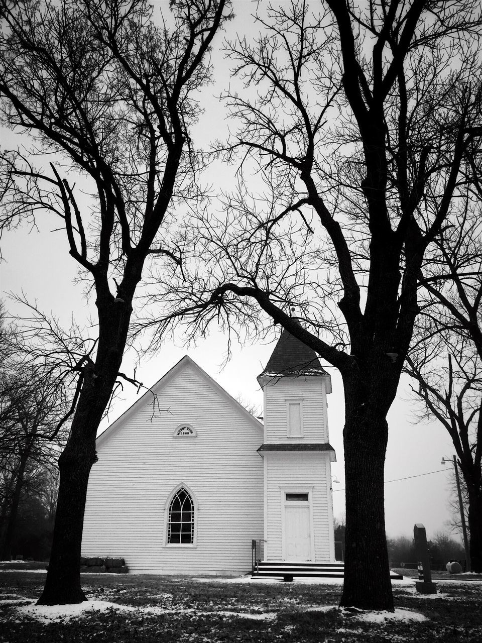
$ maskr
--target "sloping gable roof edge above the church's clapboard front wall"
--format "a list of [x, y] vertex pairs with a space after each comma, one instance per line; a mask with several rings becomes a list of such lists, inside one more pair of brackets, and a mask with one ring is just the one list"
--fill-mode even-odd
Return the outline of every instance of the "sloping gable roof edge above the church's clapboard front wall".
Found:
[[96, 439], [97, 444], [100, 444], [100, 442], [103, 442], [103, 440], [108, 436], [111, 435], [113, 431], [116, 430], [116, 427], [119, 426], [122, 422], [126, 421], [134, 415], [140, 408], [143, 407], [144, 404], [151, 403], [152, 400], [152, 394], [159, 395], [161, 390], [170, 382], [172, 379], [174, 379], [179, 373], [181, 373], [184, 368], [191, 366], [193, 367], [198, 374], [208, 383], [208, 385], [211, 386], [219, 395], [224, 397], [225, 401], [228, 404], [231, 404], [231, 406], [235, 406], [242, 415], [244, 415], [249, 421], [256, 426], [259, 430], [263, 430], [263, 424], [260, 422], [258, 419], [254, 417], [254, 415], [251, 415], [249, 411], [247, 411], [242, 404], [240, 404], [232, 395], [229, 395], [228, 391], [224, 390], [222, 386], [220, 386], [215, 379], [213, 379], [211, 376], [209, 376], [205, 370], [202, 370], [202, 368], [195, 363], [193, 359], [191, 359], [188, 355], [184, 355], [183, 358], [179, 359], [179, 361], [172, 367], [168, 372], [159, 379], [156, 384], [153, 386], [150, 386], [149, 390], [145, 392], [145, 394], [141, 395], [139, 399], [137, 399], [132, 406], [129, 406], [129, 408], [123, 412], [112, 424], [110, 424], [105, 431], [103, 431]]

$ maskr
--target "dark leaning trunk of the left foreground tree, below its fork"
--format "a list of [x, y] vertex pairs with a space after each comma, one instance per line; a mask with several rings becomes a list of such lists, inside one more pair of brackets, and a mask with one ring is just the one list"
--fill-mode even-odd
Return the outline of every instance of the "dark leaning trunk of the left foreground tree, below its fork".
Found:
[[97, 430], [118, 377], [132, 312], [129, 304], [115, 303], [110, 294], [103, 299], [98, 297], [96, 303], [100, 318], [96, 363], [84, 368], [84, 384], [69, 440], [58, 458], [60, 484], [53, 541], [46, 583], [38, 605], [87, 600], [80, 586], [87, 485], [91, 467], [96, 462]]

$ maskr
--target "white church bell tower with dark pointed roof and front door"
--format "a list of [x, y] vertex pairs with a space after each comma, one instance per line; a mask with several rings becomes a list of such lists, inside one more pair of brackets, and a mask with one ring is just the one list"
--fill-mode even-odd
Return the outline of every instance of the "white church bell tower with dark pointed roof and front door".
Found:
[[[299, 323], [297, 321], [297, 323]], [[265, 559], [335, 559], [326, 395], [331, 377], [314, 350], [283, 330], [258, 383], [263, 389]]]

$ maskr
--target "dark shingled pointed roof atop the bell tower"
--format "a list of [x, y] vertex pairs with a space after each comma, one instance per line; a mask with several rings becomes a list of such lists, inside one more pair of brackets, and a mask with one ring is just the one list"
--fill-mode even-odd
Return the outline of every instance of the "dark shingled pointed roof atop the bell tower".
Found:
[[[296, 320], [299, 324], [299, 321]], [[271, 358], [258, 377], [328, 375], [319, 358], [309, 346], [283, 329]]]

